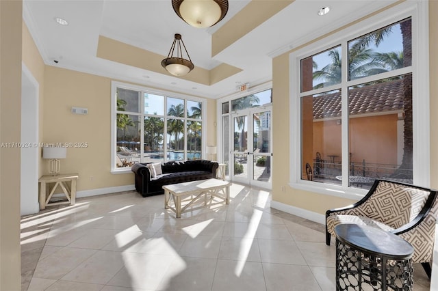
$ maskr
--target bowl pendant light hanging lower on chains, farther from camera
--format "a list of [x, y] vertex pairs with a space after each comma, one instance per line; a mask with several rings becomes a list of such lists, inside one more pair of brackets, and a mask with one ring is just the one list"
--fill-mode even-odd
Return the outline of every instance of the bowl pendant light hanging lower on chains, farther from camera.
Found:
[[[182, 44], [182, 46], [181, 46]], [[188, 59], [183, 58], [183, 49]], [[176, 56], [174, 57], [174, 53], [176, 50]], [[185, 48], [184, 42], [181, 39], [181, 34], [175, 34], [175, 40], [173, 40], [172, 46], [170, 47], [170, 51], [166, 59], [162, 60], [162, 66], [165, 68], [170, 74], [174, 76], [184, 76], [188, 74], [194, 68], [194, 64], [190, 59], [190, 55], [187, 52], [187, 48]]]

